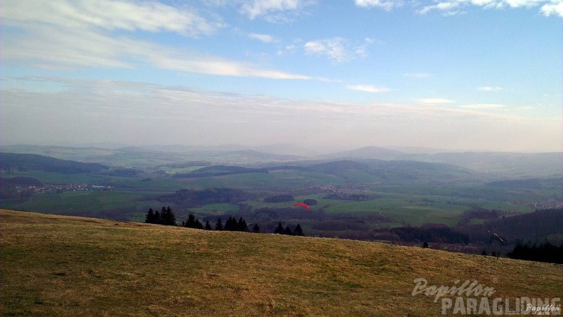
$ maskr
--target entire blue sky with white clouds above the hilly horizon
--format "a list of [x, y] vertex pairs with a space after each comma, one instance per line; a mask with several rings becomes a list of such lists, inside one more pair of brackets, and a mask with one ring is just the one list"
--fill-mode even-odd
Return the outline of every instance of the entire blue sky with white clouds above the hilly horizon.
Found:
[[563, 0], [0, 0], [0, 145], [563, 151]]

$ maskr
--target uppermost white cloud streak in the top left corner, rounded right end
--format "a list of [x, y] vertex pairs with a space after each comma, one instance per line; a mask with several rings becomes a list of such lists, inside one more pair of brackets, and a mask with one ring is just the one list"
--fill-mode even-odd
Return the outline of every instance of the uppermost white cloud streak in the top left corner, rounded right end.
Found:
[[0, 16], [4, 23], [49, 23], [66, 28], [97, 27], [107, 30], [168, 31], [185, 36], [209, 35], [224, 25], [195, 11], [159, 2], [6, 0]]

